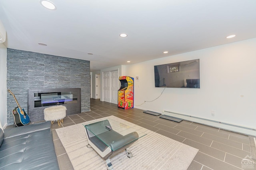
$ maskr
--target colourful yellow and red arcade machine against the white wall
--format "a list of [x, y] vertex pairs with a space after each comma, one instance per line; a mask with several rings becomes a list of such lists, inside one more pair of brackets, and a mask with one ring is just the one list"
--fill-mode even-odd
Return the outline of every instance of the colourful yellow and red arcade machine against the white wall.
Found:
[[118, 107], [123, 109], [133, 108], [134, 78], [129, 76], [120, 76], [121, 87], [118, 90]]

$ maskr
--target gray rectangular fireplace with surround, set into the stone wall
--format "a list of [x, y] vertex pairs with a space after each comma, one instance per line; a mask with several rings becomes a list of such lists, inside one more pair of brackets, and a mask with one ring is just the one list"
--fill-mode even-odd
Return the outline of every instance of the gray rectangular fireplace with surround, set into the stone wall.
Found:
[[28, 115], [30, 121], [44, 120], [44, 109], [66, 106], [66, 115], [81, 113], [80, 88], [50, 88], [28, 90]]

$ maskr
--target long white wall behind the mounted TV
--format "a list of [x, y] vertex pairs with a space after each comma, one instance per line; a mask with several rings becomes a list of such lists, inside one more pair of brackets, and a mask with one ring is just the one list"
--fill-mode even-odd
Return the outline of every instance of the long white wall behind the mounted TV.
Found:
[[[200, 59], [200, 89], [154, 87], [154, 65], [192, 59]], [[256, 39], [127, 65], [124, 72], [139, 76], [134, 80], [136, 108], [158, 113], [167, 110], [256, 129]], [[158, 96], [154, 102], [143, 104]]]

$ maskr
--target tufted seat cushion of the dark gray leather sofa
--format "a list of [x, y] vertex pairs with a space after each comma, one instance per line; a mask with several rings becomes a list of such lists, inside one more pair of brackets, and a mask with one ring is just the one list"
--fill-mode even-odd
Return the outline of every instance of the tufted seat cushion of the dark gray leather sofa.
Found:
[[50, 129], [4, 139], [0, 147], [0, 169], [54, 169], [58, 160]]

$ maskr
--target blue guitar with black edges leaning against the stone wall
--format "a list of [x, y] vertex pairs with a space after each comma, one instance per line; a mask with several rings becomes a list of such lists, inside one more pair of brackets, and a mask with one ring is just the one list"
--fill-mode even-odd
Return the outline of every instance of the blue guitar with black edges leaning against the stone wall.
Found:
[[24, 109], [22, 109], [20, 107], [20, 104], [18, 103], [16, 97], [11, 92], [11, 90], [7, 90], [7, 91], [13, 96], [16, 104], [18, 105], [18, 107], [16, 107], [15, 109], [12, 110], [12, 114], [14, 116], [14, 124], [16, 126], [27, 125], [28, 123], [30, 123], [30, 118], [29, 118], [28, 114], [25, 112]]

